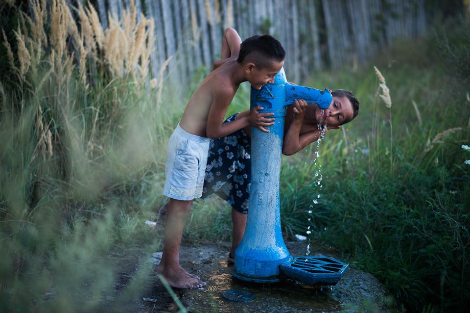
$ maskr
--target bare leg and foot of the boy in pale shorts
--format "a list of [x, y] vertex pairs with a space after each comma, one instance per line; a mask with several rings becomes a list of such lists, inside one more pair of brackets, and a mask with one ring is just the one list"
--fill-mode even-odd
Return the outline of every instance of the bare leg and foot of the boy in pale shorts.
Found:
[[182, 201], [170, 199], [167, 204], [167, 221], [165, 224], [165, 243], [163, 244], [163, 255], [157, 272], [159, 272], [175, 288], [200, 288], [206, 283], [189, 276], [179, 266], [179, 248], [183, 233], [184, 220], [191, 212], [193, 200]]

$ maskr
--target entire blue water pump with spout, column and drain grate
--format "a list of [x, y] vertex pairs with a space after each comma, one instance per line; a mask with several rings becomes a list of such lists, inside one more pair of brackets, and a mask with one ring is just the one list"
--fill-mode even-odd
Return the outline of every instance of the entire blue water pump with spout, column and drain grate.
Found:
[[235, 251], [233, 276], [253, 282], [277, 282], [289, 276], [308, 284], [336, 284], [347, 270], [347, 264], [335, 259], [290, 256], [280, 228], [279, 176], [286, 106], [295, 99], [305, 99], [326, 109], [332, 98], [327, 89], [289, 84], [284, 68], [273, 84], [260, 90], [251, 87], [250, 107], [261, 106], [262, 112], [274, 113], [275, 121], [269, 126], [270, 133], [251, 127], [249, 211], [242, 242]]

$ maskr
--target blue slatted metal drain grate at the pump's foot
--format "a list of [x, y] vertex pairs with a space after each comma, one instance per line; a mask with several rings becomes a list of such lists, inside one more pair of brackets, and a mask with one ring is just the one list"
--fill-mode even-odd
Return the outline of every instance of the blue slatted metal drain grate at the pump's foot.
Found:
[[308, 285], [335, 285], [349, 265], [331, 257], [293, 256], [280, 265], [284, 275]]

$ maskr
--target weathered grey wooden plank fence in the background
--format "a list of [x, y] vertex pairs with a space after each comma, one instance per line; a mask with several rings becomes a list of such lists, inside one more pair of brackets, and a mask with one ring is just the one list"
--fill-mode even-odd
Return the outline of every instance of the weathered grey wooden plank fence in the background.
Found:
[[[121, 18], [131, 0], [93, 0], [103, 27], [108, 12]], [[155, 20], [152, 73], [172, 57], [169, 72], [187, 82], [212, 69], [226, 27], [242, 40], [269, 33], [285, 47], [285, 70], [299, 81], [325, 66], [362, 62], [397, 37], [427, 29], [426, 0], [135, 0], [137, 14]]]

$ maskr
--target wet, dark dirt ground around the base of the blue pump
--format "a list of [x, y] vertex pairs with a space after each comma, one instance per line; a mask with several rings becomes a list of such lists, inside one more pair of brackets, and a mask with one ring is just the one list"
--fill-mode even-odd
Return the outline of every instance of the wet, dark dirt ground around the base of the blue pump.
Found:
[[[286, 242], [291, 255], [305, 255], [307, 244]], [[312, 256], [328, 256], [341, 260], [339, 251], [310, 247]], [[387, 292], [372, 275], [349, 267], [335, 286], [312, 287], [287, 279], [283, 282], [263, 284], [242, 281], [231, 275], [232, 264], [226, 260], [229, 243], [182, 245], [180, 264], [190, 273], [197, 274], [207, 285], [201, 289], [172, 289], [180, 304], [158, 279], [153, 271], [139, 289], [125, 301], [120, 298], [123, 291], [133, 282], [133, 275], [143, 265], [143, 260], [151, 259], [159, 263], [161, 253], [148, 255], [134, 249], [123, 255], [113, 255], [113, 262], [121, 268], [113, 284], [114, 294], [105, 296], [104, 311], [116, 311], [115, 300], [119, 301], [119, 311], [177, 312], [178, 305], [189, 312], [394, 312], [396, 303], [387, 299]], [[229, 300], [226, 291], [242, 291], [250, 297], [249, 302]]]

